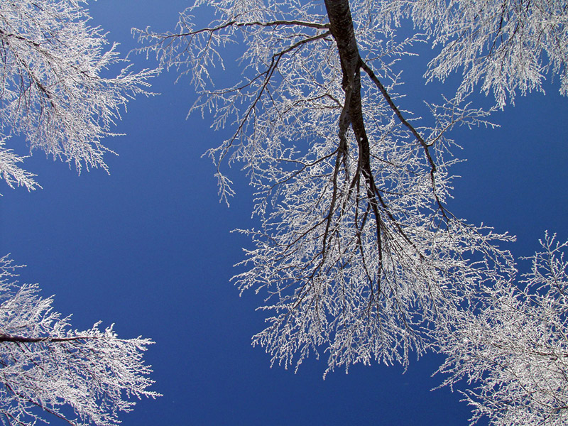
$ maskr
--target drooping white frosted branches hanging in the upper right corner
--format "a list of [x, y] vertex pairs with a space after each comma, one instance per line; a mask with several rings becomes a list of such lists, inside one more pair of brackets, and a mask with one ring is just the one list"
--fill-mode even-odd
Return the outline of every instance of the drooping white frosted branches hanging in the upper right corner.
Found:
[[[406, 2], [401, 2], [406, 3]], [[415, 25], [442, 50], [427, 76], [444, 80], [463, 72], [460, 94], [479, 83], [499, 107], [522, 94], [542, 90], [547, 75], [568, 93], [568, 8], [565, 0], [415, 0]], [[387, 7], [392, 7], [388, 5]]]

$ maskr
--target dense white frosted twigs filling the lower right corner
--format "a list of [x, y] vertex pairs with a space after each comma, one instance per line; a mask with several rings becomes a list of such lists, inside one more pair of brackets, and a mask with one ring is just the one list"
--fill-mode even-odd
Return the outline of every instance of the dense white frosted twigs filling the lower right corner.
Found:
[[568, 243], [541, 241], [532, 269], [518, 285], [499, 282], [479, 297], [442, 338], [440, 368], [453, 385], [462, 378], [474, 419], [492, 425], [568, 423]]

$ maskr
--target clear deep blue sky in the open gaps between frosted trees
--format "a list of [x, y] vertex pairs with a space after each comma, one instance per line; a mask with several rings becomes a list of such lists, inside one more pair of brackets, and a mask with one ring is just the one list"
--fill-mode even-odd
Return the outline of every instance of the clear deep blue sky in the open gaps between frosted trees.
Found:
[[[186, 1], [99, 0], [94, 25], [126, 53], [131, 27], [173, 29]], [[152, 67], [141, 56], [134, 66]], [[410, 75], [412, 77], [412, 75]], [[400, 366], [355, 366], [325, 381], [325, 360], [309, 359], [296, 374], [275, 366], [251, 335], [263, 327], [261, 297], [239, 293], [229, 279], [249, 241], [230, 234], [254, 226], [251, 190], [237, 168], [229, 209], [219, 204], [214, 169], [202, 153], [219, 136], [207, 119], [185, 120], [194, 94], [175, 75], [154, 79], [160, 96], [131, 102], [107, 140], [111, 175], [77, 176], [43, 153], [28, 159], [43, 190], [1, 187], [0, 251], [26, 263], [21, 281], [55, 294], [55, 308], [74, 327], [116, 322], [121, 337], [143, 335], [158, 400], [123, 415], [145, 425], [466, 425], [469, 409], [448, 389], [430, 392], [436, 356]], [[429, 90], [435, 90], [435, 87]], [[498, 112], [500, 129], [459, 130], [467, 158], [454, 168], [450, 209], [471, 222], [510, 231], [517, 256], [530, 255], [547, 229], [568, 238], [568, 102], [557, 84], [546, 96], [519, 97]], [[16, 141], [14, 139], [13, 141]], [[25, 148], [21, 145], [21, 153]], [[53, 424], [57, 424], [53, 422]], [[482, 423], [480, 423], [482, 424]]]

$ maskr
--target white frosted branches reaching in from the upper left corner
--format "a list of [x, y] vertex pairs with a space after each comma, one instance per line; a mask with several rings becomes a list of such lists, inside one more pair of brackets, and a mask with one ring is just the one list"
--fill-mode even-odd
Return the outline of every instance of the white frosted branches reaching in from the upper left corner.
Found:
[[[89, 26], [82, 4], [0, 1], [0, 136], [23, 135], [31, 151], [45, 151], [79, 171], [107, 168], [102, 138], [113, 134], [121, 109], [144, 92], [152, 74], [131, 72], [116, 45], [107, 46], [102, 30]], [[35, 189], [20, 162], [0, 146], [2, 178]]]

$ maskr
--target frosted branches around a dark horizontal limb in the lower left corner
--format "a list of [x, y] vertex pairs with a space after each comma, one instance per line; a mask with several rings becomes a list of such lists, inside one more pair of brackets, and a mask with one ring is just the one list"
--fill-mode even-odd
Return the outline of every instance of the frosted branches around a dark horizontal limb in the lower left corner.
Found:
[[149, 339], [119, 339], [113, 327], [83, 332], [52, 308], [38, 285], [20, 285], [0, 258], [0, 421], [35, 425], [60, 417], [70, 425], [117, 425], [132, 398], [154, 398], [142, 355]]

